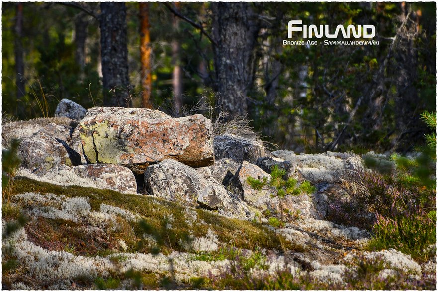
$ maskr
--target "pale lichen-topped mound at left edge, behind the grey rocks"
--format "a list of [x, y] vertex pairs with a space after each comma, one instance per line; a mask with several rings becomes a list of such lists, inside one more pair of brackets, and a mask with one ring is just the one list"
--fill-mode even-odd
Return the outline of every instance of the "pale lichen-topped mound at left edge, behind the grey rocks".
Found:
[[10, 142], [13, 139], [21, 139], [22, 137], [32, 136], [43, 127], [49, 124], [56, 124], [69, 128], [76, 127], [77, 123], [66, 117], [49, 117], [35, 118], [26, 121], [15, 121], [2, 125], [1, 143], [5, 148], [9, 148]]

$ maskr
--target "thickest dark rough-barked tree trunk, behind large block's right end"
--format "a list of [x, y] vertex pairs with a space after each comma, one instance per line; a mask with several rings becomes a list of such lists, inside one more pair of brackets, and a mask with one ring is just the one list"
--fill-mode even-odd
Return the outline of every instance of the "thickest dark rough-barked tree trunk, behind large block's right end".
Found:
[[259, 27], [251, 3], [211, 3], [214, 64], [219, 105], [231, 115], [247, 113], [247, 90], [253, 81], [254, 47]]

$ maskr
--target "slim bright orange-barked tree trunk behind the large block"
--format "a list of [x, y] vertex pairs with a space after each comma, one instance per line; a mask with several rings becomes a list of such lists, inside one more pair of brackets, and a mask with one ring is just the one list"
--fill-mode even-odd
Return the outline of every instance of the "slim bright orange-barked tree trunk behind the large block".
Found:
[[152, 108], [151, 40], [149, 36], [149, 3], [140, 3], [140, 63], [142, 107]]

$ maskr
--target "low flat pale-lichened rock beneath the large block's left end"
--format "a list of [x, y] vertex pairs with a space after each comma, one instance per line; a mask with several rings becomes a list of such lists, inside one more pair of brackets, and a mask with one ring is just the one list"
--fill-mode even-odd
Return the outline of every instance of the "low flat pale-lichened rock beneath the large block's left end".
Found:
[[136, 193], [134, 174], [126, 167], [115, 164], [88, 164], [68, 167], [60, 165], [47, 172], [32, 173], [20, 169], [17, 175], [62, 186], [82, 186], [110, 189], [121, 193]]

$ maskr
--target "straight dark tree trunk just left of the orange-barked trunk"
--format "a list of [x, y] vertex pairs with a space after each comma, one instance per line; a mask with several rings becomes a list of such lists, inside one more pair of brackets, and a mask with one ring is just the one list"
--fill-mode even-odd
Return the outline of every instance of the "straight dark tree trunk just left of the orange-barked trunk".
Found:
[[100, 4], [100, 46], [105, 106], [129, 106], [126, 6]]

